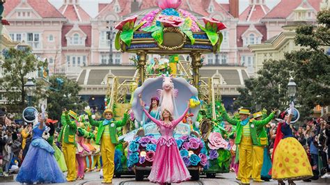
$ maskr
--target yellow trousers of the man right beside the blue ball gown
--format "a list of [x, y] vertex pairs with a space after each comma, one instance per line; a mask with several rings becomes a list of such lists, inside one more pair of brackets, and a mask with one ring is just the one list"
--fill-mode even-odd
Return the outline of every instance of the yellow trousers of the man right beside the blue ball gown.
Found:
[[74, 181], [77, 178], [76, 171], [76, 147], [73, 144], [64, 143], [62, 144], [62, 150], [66, 166], [68, 168], [67, 180]]

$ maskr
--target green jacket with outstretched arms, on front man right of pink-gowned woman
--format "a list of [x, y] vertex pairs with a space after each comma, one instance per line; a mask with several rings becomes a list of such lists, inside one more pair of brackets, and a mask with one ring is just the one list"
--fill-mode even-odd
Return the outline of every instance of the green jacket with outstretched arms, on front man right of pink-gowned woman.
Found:
[[[242, 133], [243, 133], [243, 126], [241, 124], [241, 120], [235, 120], [233, 118], [230, 118], [224, 108], [221, 108], [220, 111], [221, 111], [221, 115], [223, 116], [223, 118], [225, 118], [227, 120], [227, 122], [229, 122], [230, 124], [233, 124], [233, 125], [237, 126], [236, 127], [235, 144], [236, 145], [239, 145], [239, 143], [241, 143]], [[250, 120], [249, 121], [250, 134], [251, 134], [253, 145], [258, 145], [258, 137], [257, 137], [256, 127], [264, 126], [265, 124], [267, 124], [273, 118], [274, 118], [274, 113], [271, 113], [264, 120], [260, 120], [260, 121], [258, 121], [258, 120]]]

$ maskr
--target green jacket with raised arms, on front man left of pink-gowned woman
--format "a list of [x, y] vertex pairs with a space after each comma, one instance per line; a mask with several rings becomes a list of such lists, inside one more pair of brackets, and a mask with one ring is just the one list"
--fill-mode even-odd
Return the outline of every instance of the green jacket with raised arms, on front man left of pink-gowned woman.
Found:
[[[110, 122], [109, 124], [106, 125], [106, 126], [110, 127], [111, 143], [113, 143], [113, 144], [118, 143], [117, 127], [123, 127], [127, 122], [127, 118], [128, 118], [127, 113], [124, 113], [123, 120], [112, 121], [112, 122]], [[97, 145], [101, 145], [101, 138], [102, 138], [102, 135], [103, 135], [104, 127], [106, 127], [106, 126], [103, 125], [103, 121], [93, 120], [91, 115], [88, 115], [88, 119], [89, 119], [89, 122], [91, 123], [92, 126], [98, 127], [95, 143]], [[111, 125], [113, 125], [113, 127], [111, 127]]]

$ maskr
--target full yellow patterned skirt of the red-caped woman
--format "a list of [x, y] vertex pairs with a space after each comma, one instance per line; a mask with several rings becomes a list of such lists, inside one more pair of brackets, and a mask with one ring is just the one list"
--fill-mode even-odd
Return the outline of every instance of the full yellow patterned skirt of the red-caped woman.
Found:
[[295, 138], [282, 139], [275, 150], [272, 178], [280, 180], [307, 179], [313, 176], [308, 156]]

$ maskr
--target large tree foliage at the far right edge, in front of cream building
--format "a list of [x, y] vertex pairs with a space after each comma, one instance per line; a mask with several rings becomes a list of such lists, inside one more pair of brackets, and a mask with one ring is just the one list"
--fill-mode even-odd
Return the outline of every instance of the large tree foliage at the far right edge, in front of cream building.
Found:
[[303, 115], [312, 113], [316, 105], [330, 104], [330, 11], [317, 14], [318, 26], [299, 26], [296, 45], [304, 47], [299, 51], [285, 54], [292, 62], [293, 77], [297, 83], [297, 99]]

